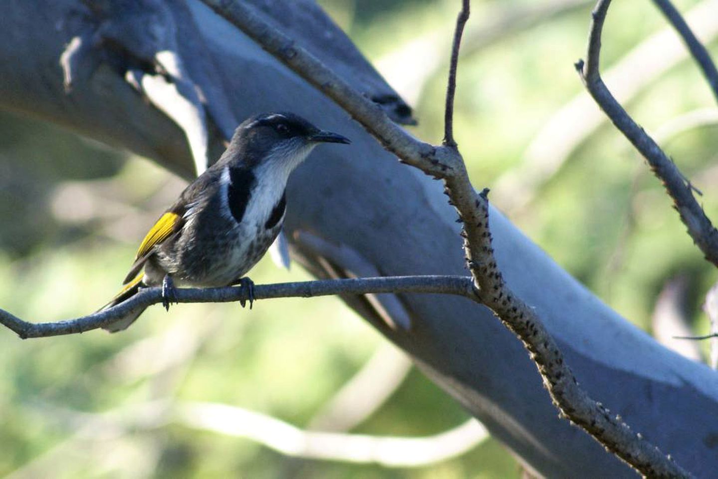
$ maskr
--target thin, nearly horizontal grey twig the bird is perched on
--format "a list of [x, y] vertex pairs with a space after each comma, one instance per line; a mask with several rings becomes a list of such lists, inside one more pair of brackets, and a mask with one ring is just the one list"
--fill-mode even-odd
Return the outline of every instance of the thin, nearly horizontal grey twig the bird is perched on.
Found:
[[[254, 299], [280, 297], [315, 297], [333, 294], [369, 293], [442, 293], [473, 297], [472, 281], [467, 276], [391, 276], [385, 278], [330, 279], [295, 283], [258, 284], [254, 287]], [[246, 289], [226, 288], [180, 288], [177, 302], [232, 302], [247, 300]], [[130, 299], [108, 310], [73, 320], [32, 323], [21, 320], [11, 313], [0, 310], [0, 324], [19, 335], [20, 338], [45, 338], [68, 335], [111, 325], [130, 312], [162, 302], [162, 288], [142, 289]]]

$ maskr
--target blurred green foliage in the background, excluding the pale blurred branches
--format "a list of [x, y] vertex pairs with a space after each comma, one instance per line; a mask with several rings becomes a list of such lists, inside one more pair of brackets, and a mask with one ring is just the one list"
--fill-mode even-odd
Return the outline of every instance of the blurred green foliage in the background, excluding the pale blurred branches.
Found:
[[[371, 60], [432, 32], [450, 37], [458, 1], [324, 0]], [[474, 2], [486, 24], [526, 1]], [[678, 1], [687, 10], [695, 1]], [[582, 92], [589, 6], [506, 32], [463, 58], [456, 136], [477, 187], [515, 171], [551, 116]], [[630, 26], [630, 27], [629, 27]], [[604, 69], [665, 22], [651, 2], [616, 2]], [[676, 40], [677, 41], [677, 40]], [[714, 55], [715, 42], [709, 43]], [[448, 57], [448, 50], [445, 52]], [[439, 141], [445, 65], [426, 83], [415, 132]], [[642, 75], [635, 71], [635, 75]], [[714, 98], [686, 60], [628, 104], [653, 131]], [[572, 125], [567, 125], [571, 129]], [[718, 217], [718, 126], [665, 144]], [[146, 159], [54, 126], [0, 114], [0, 306], [34, 321], [84, 315], [113, 295], [146, 228], [183, 182]], [[499, 208], [503, 205], [498, 203]], [[638, 327], [650, 330], [658, 292], [689, 278], [687, 314], [707, 330], [702, 297], [716, 275], [692, 245], [660, 185], [609, 124], [589, 136], [523, 208], [508, 210], [561, 266]], [[256, 282], [306, 279], [265, 259]], [[143, 422], [147, 401], [216, 401], [304, 427], [382, 338], [336, 299], [153, 307], [126, 332], [20, 341], [0, 331], [0, 475], [52, 477], [510, 478], [516, 460], [493, 440], [421, 468], [300, 461], [237, 437], [169, 421]], [[115, 416], [106, 413], [112, 411]], [[121, 420], [117, 414], [124, 412]], [[109, 419], [108, 419], [109, 418]], [[113, 419], [114, 418], [114, 419]], [[353, 432], [437, 434], [468, 418], [421, 373]], [[103, 422], [104, 421], [104, 422]]]

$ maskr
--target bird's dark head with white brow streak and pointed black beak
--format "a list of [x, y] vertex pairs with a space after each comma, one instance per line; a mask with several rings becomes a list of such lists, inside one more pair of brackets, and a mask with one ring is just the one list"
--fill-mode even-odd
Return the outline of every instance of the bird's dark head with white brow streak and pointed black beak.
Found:
[[248, 167], [286, 170], [287, 175], [321, 143], [350, 141], [340, 134], [318, 129], [294, 113], [251, 116], [237, 127], [225, 156]]

